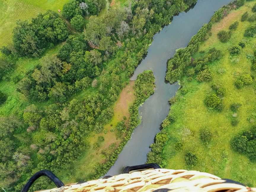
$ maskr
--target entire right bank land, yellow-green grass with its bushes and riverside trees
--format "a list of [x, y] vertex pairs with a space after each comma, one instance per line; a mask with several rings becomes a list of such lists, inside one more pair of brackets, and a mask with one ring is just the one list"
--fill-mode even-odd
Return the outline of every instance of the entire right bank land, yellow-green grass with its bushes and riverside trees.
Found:
[[255, 1], [233, 1], [169, 59], [180, 88], [148, 162], [255, 186], [255, 21]]

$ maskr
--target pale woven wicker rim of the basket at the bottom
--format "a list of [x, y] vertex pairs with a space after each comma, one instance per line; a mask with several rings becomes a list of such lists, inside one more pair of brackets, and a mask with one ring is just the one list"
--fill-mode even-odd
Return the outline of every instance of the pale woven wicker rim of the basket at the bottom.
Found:
[[209, 173], [172, 169], [147, 169], [121, 174], [108, 179], [98, 179], [82, 184], [69, 184], [62, 188], [44, 190], [43, 192], [151, 192], [167, 188], [172, 192], [247, 192], [256, 191], [234, 183], [224, 183], [225, 180]]

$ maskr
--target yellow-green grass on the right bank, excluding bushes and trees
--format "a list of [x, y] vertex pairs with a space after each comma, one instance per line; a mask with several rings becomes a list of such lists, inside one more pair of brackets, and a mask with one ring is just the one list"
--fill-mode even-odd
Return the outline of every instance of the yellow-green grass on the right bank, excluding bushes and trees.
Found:
[[[203, 172], [209, 172], [222, 178], [230, 178], [240, 181], [247, 185], [256, 185], [256, 166], [255, 163], [240, 153], [233, 151], [230, 140], [239, 132], [248, 130], [255, 124], [256, 94], [255, 79], [253, 84], [237, 89], [234, 86], [236, 77], [241, 74], [251, 74], [255, 76], [255, 71], [251, 70], [251, 61], [246, 58], [247, 54], [253, 54], [255, 50], [255, 38], [245, 38], [244, 31], [247, 26], [255, 24], [248, 21], [241, 22], [241, 15], [248, 11], [255, 4], [247, 2], [246, 4], [233, 10], [227, 17], [224, 17], [219, 23], [213, 25], [209, 39], [204, 41], [199, 51], [193, 55], [193, 58], [201, 56], [202, 50], [209, 50], [212, 47], [220, 49], [224, 56], [210, 65], [214, 74], [211, 82], [198, 82], [193, 76], [192, 81], [188, 81], [188, 76], [184, 76], [181, 84], [188, 90], [183, 95], [178, 92], [176, 103], [172, 105], [171, 112], [177, 117], [177, 120], [167, 128], [170, 139], [164, 147], [164, 155], [169, 169], [194, 169]], [[230, 24], [239, 21], [238, 29], [232, 32], [231, 39], [227, 43], [221, 43], [217, 38], [220, 30], [228, 30]], [[237, 45], [241, 40], [246, 41], [246, 47], [242, 49], [238, 56], [230, 56], [228, 48]], [[231, 62], [233, 59], [237, 63]], [[219, 71], [225, 71], [223, 74]], [[210, 111], [204, 104], [205, 97], [212, 93], [211, 85], [213, 83], [222, 83], [226, 89], [226, 95], [223, 98], [225, 108], [222, 112]], [[239, 124], [236, 127], [231, 125], [232, 103], [241, 103], [238, 111]], [[199, 130], [209, 128], [213, 133], [213, 138], [208, 145], [201, 142]], [[173, 147], [176, 143], [183, 143], [184, 149], [177, 152]], [[187, 167], [184, 155], [188, 151], [197, 154], [199, 163], [195, 167]], [[223, 159], [223, 151], [228, 151], [228, 161]]]

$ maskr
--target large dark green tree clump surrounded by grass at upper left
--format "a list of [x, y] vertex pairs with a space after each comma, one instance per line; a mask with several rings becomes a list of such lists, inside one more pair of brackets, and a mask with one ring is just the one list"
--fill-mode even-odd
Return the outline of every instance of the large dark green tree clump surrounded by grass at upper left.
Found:
[[13, 43], [20, 55], [38, 57], [50, 43], [64, 41], [68, 33], [63, 20], [49, 10], [33, 18], [32, 22], [18, 20], [13, 30]]

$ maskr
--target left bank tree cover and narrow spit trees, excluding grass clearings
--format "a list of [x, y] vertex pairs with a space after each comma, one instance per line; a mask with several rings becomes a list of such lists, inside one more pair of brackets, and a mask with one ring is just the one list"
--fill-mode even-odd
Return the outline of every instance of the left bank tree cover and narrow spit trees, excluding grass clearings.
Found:
[[[1, 153], [0, 180], [3, 186], [9, 186], [10, 191], [19, 191], [25, 181], [41, 169], [54, 172], [70, 169], [72, 172], [71, 163], [89, 147], [84, 138], [92, 131], [103, 131], [103, 125], [113, 115], [111, 105], [146, 54], [153, 35], [162, 25], [168, 24], [173, 15], [195, 2], [141, 0], [132, 1], [123, 9], [109, 7], [103, 17], [91, 16], [80, 36], [68, 36], [63, 20], [51, 11], [40, 14], [31, 23], [18, 24], [13, 39], [16, 45], [2, 49], [5, 57], [39, 57], [47, 47], [68, 39], [57, 55], [44, 57], [22, 80], [15, 80], [17, 90], [35, 104], [27, 106], [23, 113], [1, 117], [2, 151], [11, 151]], [[77, 7], [75, 3], [74, 7], [79, 8], [80, 4]], [[24, 46], [20, 46], [18, 38], [24, 40]], [[147, 84], [145, 81], [149, 80], [151, 86], [148, 88], [151, 89], [152, 75], [152, 72], [146, 72], [138, 77], [141, 82], [136, 86]], [[92, 81], [95, 77], [97, 79]], [[88, 87], [93, 87], [94, 91], [86, 98], [66, 102], [74, 92]], [[148, 91], [143, 95], [140, 89], [147, 87], [143, 85], [136, 90], [138, 100], [130, 109], [133, 111], [130, 112], [130, 128], [123, 143], [105, 164], [96, 167], [95, 174], [88, 179], [103, 175], [129, 140], [138, 123], [139, 104], [153, 93]], [[48, 99], [55, 103], [44, 108], [36, 105]], [[48, 186], [48, 180], [40, 179], [32, 190]]]

